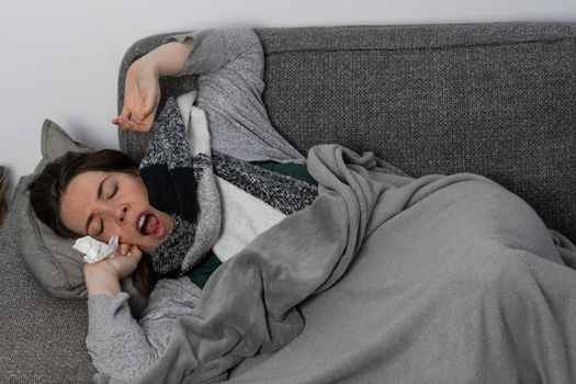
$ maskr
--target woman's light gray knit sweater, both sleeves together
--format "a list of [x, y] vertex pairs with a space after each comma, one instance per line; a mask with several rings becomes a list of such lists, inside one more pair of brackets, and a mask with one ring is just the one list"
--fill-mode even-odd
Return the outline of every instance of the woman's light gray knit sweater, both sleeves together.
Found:
[[[199, 75], [196, 105], [206, 113], [212, 147], [247, 161], [304, 161], [268, 117], [261, 98], [264, 58], [253, 31], [200, 31], [166, 42], [188, 38], [194, 46], [180, 75]], [[118, 380], [138, 376], [162, 353], [173, 321], [191, 314], [200, 294], [185, 276], [160, 280], [139, 321], [126, 293], [90, 297], [86, 342], [97, 370]]]

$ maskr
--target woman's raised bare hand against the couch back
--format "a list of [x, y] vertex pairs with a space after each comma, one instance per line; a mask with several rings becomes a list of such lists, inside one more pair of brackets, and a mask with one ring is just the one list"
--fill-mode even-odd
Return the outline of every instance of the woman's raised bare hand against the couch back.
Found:
[[159, 77], [157, 66], [146, 56], [134, 61], [126, 72], [124, 108], [112, 123], [127, 131], [149, 132], [160, 100]]

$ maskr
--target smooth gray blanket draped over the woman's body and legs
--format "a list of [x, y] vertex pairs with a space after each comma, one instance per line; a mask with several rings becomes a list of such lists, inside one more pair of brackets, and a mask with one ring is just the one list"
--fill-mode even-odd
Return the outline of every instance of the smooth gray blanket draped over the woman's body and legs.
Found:
[[575, 382], [576, 252], [524, 201], [335, 145], [308, 170], [315, 202], [212, 275], [138, 383]]

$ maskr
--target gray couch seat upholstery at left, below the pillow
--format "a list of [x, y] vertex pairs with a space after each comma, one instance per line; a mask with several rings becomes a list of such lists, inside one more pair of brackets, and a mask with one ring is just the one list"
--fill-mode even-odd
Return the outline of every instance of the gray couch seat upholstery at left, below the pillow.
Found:
[[52, 296], [19, 251], [24, 184], [14, 192], [0, 236], [0, 382], [90, 383], [95, 371], [84, 346], [86, 301]]

